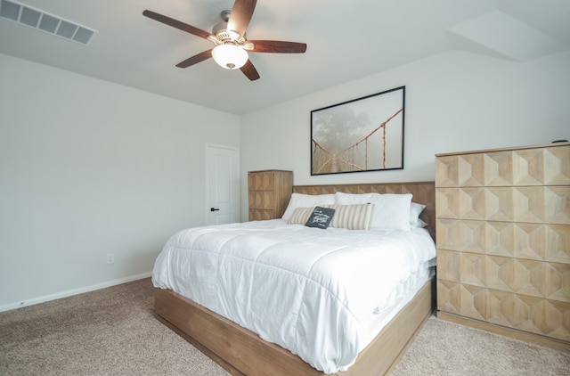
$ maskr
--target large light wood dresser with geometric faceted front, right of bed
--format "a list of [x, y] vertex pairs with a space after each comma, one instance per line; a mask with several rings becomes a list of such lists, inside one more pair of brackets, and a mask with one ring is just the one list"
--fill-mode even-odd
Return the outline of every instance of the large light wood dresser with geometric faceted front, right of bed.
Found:
[[436, 155], [438, 317], [570, 350], [570, 143]]

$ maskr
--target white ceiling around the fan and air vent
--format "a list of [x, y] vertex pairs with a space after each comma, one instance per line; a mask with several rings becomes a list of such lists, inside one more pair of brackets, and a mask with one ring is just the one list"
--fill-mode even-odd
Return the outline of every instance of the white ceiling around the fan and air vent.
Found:
[[248, 38], [307, 50], [250, 53], [261, 76], [251, 82], [213, 60], [176, 68], [211, 43], [142, 16], [149, 9], [210, 31], [232, 0], [14, 2], [98, 33], [81, 45], [0, 18], [0, 53], [235, 114], [451, 49], [513, 61], [570, 49], [568, 0], [258, 0]]

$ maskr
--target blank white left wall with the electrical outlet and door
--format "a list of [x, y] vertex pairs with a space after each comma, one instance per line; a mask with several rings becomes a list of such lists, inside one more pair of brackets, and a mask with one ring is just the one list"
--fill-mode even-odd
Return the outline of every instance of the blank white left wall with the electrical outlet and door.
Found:
[[[0, 54], [0, 310], [148, 275], [240, 118]], [[115, 263], [106, 264], [106, 255]]]

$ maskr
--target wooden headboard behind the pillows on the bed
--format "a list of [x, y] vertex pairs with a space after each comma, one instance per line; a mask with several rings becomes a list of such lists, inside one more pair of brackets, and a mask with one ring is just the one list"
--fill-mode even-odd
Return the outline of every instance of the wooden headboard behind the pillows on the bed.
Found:
[[434, 182], [373, 183], [373, 184], [327, 184], [294, 185], [293, 192], [305, 194], [345, 193], [411, 193], [411, 201], [426, 205], [419, 216], [428, 224], [426, 227], [436, 239], [436, 187]]

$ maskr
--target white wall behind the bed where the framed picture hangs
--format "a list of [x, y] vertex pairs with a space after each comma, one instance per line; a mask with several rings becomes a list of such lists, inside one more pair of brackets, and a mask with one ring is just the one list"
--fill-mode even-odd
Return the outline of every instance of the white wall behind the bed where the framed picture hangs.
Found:
[[[295, 184], [434, 180], [434, 155], [570, 139], [570, 52], [525, 63], [450, 52], [249, 113], [241, 119], [241, 216], [248, 171]], [[404, 168], [311, 176], [310, 112], [406, 86]]]

